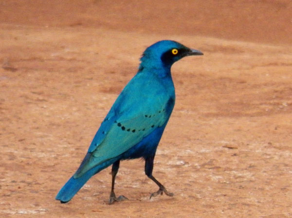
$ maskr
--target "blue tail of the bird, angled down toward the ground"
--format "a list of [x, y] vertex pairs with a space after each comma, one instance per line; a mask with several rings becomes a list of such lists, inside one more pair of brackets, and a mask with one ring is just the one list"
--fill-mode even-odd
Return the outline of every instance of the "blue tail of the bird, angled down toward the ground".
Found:
[[61, 203], [67, 203], [70, 201], [74, 195], [82, 188], [82, 186], [96, 173], [110, 166], [116, 161], [116, 159], [110, 159], [102, 164], [99, 164], [92, 169], [88, 170], [82, 176], [78, 178], [74, 178], [72, 176], [68, 182], [61, 188], [59, 193], [57, 194], [55, 200], [60, 200]]

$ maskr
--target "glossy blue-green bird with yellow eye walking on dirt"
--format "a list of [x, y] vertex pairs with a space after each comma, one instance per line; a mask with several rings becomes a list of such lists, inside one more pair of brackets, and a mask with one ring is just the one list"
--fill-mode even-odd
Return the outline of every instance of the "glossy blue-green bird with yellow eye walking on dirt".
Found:
[[159, 189], [156, 197], [168, 192], [153, 175], [154, 157], [175, 104], [171, 66], [185, 56], [203, 55], [173, 40], [162, 40], [146, 48], [138, 72], [121, 91], [96, 132], [77, 171], [55, 197], [67, 203], [95, 174], [112, 165], [109, 204], [128, 200], [114, 192], [120, 161], [142, 158], [145, 174]]

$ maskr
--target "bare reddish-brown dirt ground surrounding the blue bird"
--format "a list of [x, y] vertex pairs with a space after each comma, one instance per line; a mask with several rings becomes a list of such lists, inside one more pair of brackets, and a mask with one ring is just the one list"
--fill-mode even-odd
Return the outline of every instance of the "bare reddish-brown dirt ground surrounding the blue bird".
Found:
[[[110, 2], [110, 3], [109, 3]], [[220, 3], [218, 3], [220, 2]], [[291, 0], [2, 0], [0, 217], [291, 218]], [[122, 162], [68, 204], [54, 200], [145, 48], [204, 56], [172, 68], [177, 100], [154, 176]]]

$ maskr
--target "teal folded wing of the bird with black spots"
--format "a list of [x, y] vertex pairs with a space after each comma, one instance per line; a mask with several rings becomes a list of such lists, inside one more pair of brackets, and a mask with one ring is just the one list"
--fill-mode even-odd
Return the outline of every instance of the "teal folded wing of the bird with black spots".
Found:
[[110, 109], [92, 140], [88, 150], [91, 155], [76, 172], [77, 177], [124, 153], [168, 120], [174, 96], [155, 80], [139, 83], [138, 79], [134, 77], [129, 82]]

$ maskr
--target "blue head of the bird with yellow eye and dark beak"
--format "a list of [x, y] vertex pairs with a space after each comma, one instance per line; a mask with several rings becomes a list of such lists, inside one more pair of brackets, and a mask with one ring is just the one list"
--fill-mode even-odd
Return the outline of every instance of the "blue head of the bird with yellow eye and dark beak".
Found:
[[190, 55], [203, 55], [203, 53], [198, 50], [190, 49], [176, 41], [159, 41], [145, 50], [141, 57], [139, 70], [152, 68], [164, 69], [170, 72], [170, 68], [174, 62]]

